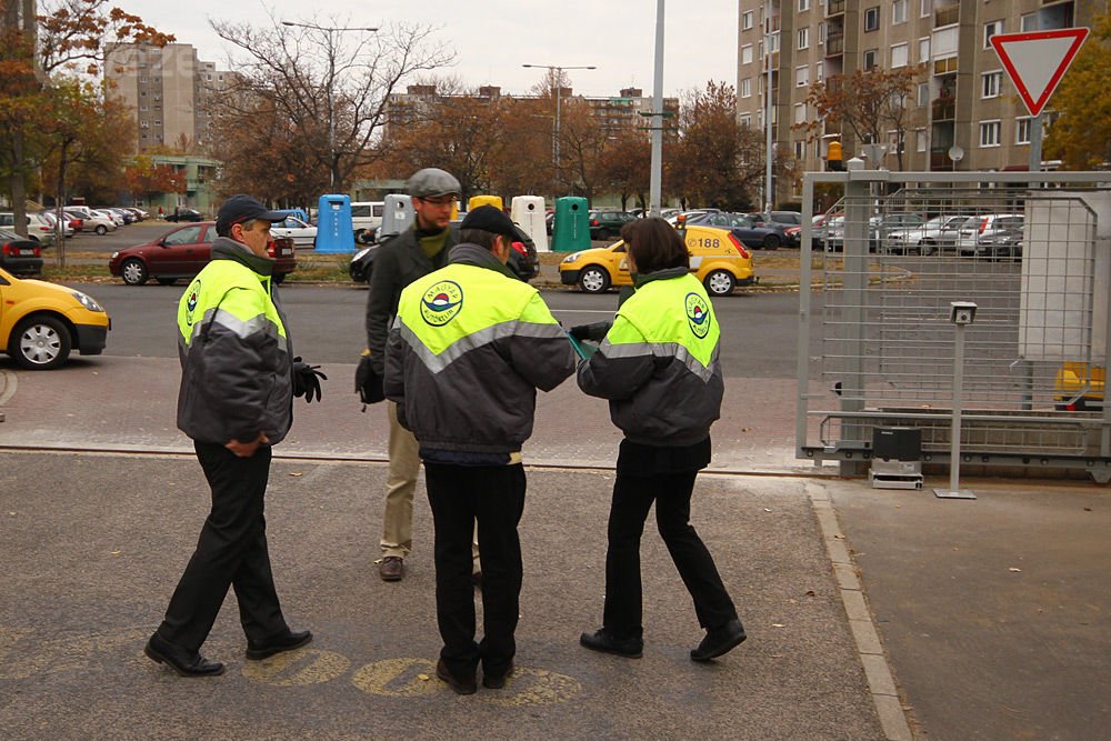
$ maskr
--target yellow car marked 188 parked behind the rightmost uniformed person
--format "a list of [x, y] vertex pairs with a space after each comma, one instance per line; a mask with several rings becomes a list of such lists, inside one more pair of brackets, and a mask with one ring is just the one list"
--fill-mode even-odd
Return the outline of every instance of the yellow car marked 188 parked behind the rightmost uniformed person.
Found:
[[[710, 296], [729, 296], [737, 286], [757, 282], [752, 256], [728, 229], [687, 227], [682, 230], [691, 254], [691, 272]], [[587, 293], [602, 293], [610, 286], [631, 286], [624, 241], [574, 252], [559, 266], [564, 286], [578, 284]]]

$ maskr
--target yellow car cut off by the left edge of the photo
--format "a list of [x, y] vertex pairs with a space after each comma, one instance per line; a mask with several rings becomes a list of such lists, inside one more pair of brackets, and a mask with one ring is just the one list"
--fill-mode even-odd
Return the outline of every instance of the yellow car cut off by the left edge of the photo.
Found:
[[103, 307], [81, 291], [0, 269], [0, 352], [19, 367], [52, 370], [74, 349], [99, 356], [111, 327]]

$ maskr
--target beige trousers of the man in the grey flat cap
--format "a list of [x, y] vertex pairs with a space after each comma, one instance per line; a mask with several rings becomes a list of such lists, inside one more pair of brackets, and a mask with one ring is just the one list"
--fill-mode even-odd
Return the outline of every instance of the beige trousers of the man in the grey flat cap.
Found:
[[[398, 404], [386, 402], [390, 421], [390, 471], [386, 478], [386, 512], [382, 514], [382, 558], [406, 558], [413, 547], [413, 492], [420, 472], [420, 444], [412, 432], [398, 422]], [[479, 539], [474, 534], [471, 552], [479, 571]]]

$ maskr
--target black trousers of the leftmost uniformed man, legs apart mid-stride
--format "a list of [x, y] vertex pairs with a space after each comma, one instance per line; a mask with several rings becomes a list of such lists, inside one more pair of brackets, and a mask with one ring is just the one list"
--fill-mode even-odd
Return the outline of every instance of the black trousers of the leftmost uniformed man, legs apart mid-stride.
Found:
[[239, 458], [220, 444], [194, 442], [193, 448], [212, 488], [212, 511], [158, 632], [188, 651], [199, 651], [228, 587], [234, 587], [248, 640], [263, 642], [284, 633], [289, 627], [270, 571], [263, 515], [270, 447], [260, 447], [250, 458]]

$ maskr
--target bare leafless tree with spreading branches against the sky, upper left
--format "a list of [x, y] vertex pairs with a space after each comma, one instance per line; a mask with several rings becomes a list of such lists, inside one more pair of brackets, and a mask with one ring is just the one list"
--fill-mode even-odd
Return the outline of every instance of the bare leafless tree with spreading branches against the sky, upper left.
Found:
[[221, 93], [222, 116], [249, 117], [252, 96], [268, 97], [308, 159], [340, 190], [357, 168], [382, 157], [373, 143], [390, 94], [404, 80], [451, 63], [454, 53], [436, 43], [436, 29], [427, 26], [372, 33], [328, 21], [288, 26], [271, 13], [267, 28], [224, 21], [212, 28], [247, 54], [233, 62], [239, 83]]

